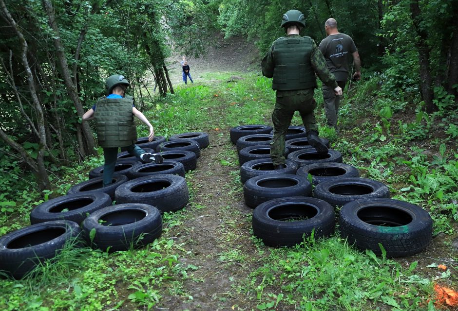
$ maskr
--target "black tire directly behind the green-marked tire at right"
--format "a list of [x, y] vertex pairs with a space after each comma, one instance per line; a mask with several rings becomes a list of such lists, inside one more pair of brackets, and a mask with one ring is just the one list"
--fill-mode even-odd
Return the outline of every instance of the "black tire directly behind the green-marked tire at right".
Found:
[[332, 206], [343, 206], [359, 199], [389, 198], [390, 190], [377, 180], [350, 177], [319, 183], [313, 190], [313, 196]]

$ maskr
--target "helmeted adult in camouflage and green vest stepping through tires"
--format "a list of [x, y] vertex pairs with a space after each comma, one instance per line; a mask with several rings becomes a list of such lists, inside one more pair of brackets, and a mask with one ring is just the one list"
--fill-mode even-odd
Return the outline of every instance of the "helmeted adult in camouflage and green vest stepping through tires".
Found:
[[313, 99], [317, 87], [315, 73], [326, 86], [332, 87], [336, 95], [342, 95], [342, 88], [326, 67], [323, 54], [315, 41], [299, 35], [305, 27], [305, 17], [298, 10], [283, 15], [282, 27], [286, 36], [275, 40], [264, 56], [261, 67], [267, 78], [273, 78], [272, 88], [277, 91], [275, 108], [272, 113], [274, 125], [270, 157], [275, 169], [285, 167], [285, 136], [295, 111], [299, 111], [307, 132], [308, 143], [318, 153], [326, 154], [326, 145], [318, 138]]

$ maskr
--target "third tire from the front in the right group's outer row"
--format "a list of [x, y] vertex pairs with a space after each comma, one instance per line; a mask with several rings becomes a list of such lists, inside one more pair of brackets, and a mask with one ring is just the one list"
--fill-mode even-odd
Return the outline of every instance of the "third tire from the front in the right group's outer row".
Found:
[[308, 174], [312, 176], [312, 185], [337, 178], [359, 177], [360, 173], [356, 167], [349, 164], [338, 162], [315, 163], [305, 165], [296, 172], [297, 175], [308, 179]]

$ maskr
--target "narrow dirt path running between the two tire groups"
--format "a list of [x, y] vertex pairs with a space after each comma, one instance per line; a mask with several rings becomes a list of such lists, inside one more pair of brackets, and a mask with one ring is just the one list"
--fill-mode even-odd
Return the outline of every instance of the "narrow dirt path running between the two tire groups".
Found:
[[233, 192], [235, 184], [230, 173], [238, 166], [223, 166], [220, 162], [221, 154], [235, 148], [229, 141], [229, 128], [209, 129], [208, 133], [210, 147], [202, 150], [197, 169], [187, 176], [191, 178], [194, 206], [187, 207], [184, 223], [173, 232], [175, 242], [183, 244], [181, 261], [198, 267], [184, 282], [185, 292], [192, 300], [165, 296], [160, 308], [167, 310], [218, 311], [249, 305], [232, 286], [249, 273], [241, 263], [244, 255], [238, 250], [243, 249], [244, 254], [254, 254], [256, 250], [249, 240], [251, 224], [247, 216], [252, 210], [245, 206], [240, 191]]

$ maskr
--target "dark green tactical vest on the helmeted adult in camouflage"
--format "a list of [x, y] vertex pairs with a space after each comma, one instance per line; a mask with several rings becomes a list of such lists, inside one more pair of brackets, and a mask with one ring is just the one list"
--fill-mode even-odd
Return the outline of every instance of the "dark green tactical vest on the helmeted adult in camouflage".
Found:
[[297, 90], [316, 88], [315, 71], [310, 63], [312, 39], [304, 36], [288, 36], [277, 39], [273, 46], [272, 88]]

